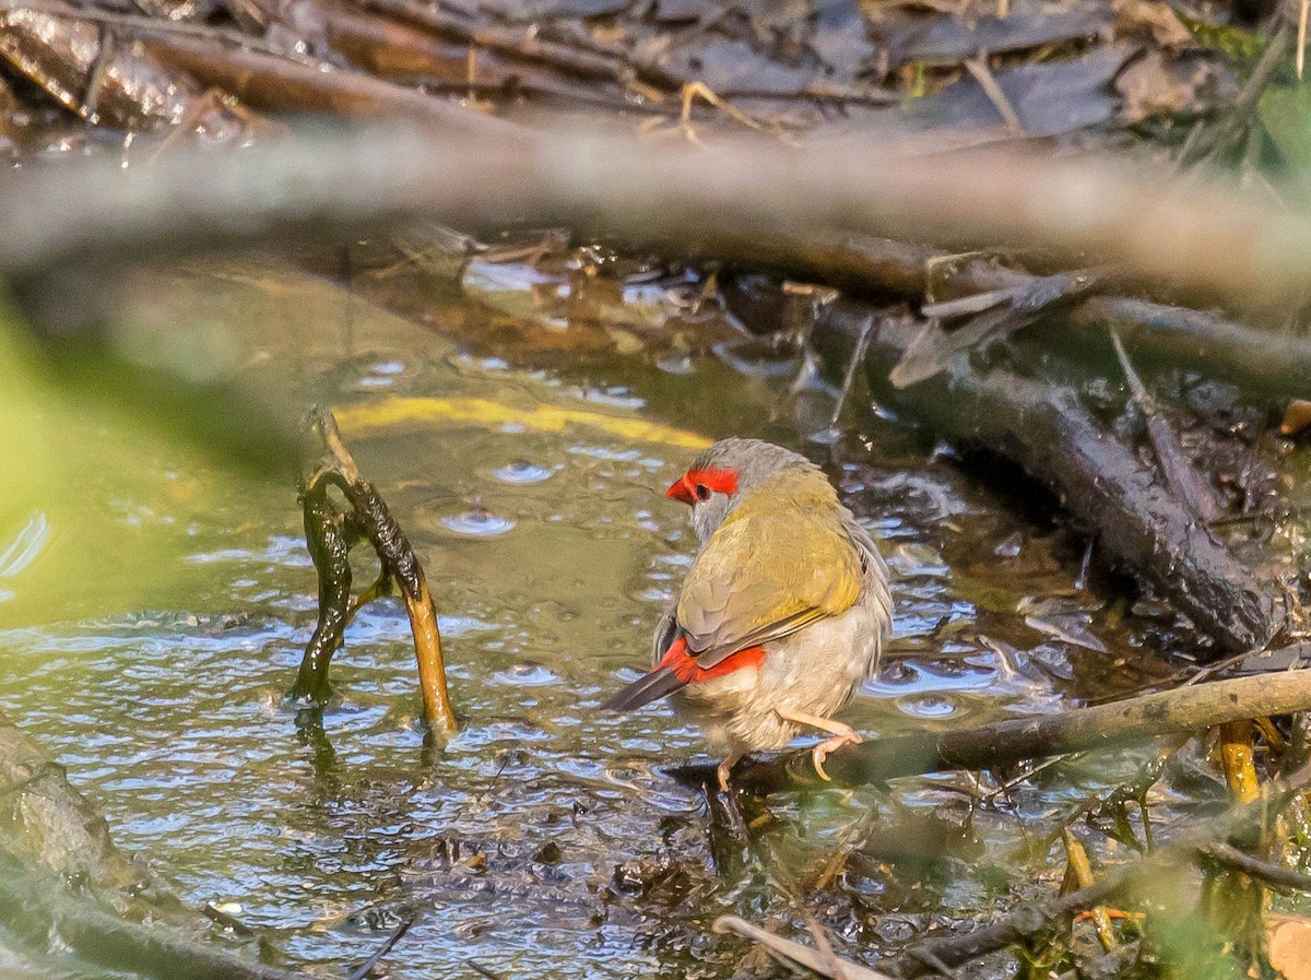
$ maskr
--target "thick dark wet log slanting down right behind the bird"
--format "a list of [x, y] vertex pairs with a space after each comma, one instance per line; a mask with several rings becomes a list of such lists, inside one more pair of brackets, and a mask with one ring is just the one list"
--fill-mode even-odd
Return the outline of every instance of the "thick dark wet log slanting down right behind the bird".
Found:
[[1283, 622], [1270, 583], [1259, 580], [1193, 518], [1133, 448], [1099, 424], [1068, 386], [1006, 368], [975, 369], [960, 358], [937, 377], [903, 390], [890, 366], [915, 341], [920, 321], [836, 303], [815, 341], [850, 351], [874, 313], [865, 367], [874, 397], [932, 426], [943, 438], [1000, 453], [1049, 486], [1078, 524], [1143, 578], [1222, 651], [1257, 650]]

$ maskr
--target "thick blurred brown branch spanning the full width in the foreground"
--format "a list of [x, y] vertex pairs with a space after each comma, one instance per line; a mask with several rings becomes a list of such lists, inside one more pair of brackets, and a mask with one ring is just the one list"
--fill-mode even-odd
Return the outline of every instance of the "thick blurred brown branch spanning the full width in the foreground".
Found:
[[[168, 43], [181, 51], [182, 42]], [[193, 54], [203, 75], [203, 59]], [[346, 73], [328, 77], [358, 88]], [[1122, 265], [1181, 292], [1238, 304], [1295, 300], [1311, 261], [1306, 215], [1141, 166], [999, 151], [893, 153], [856, 143], [796, 149], [741, 139], [705, 148], [581, 131], [545, 135], [408, 94], [406, 118], [437, 121], [460, 139], [320, 135], [235, 155], [186, 153], [149, 168], [5, 174], [0, 269], [49, 267], [88, 246], [265, 241], [296, 223], [358, 227], [401, 212], [486, 221], [489, 202], [523, 220], [603, 221], [614, 232], [662, 238], [695, 238], [713, 214], [738, 240], [781, 229], [796, 240], [844, 227], [962, 248], [1025, 242], [1065, 257], [1087, 253], [1083, 261]], [[264, 96], [265, 105], [277, 102], [267, 85]], [[245, 97], [254, 101], [252, 92]], [[384, 100], [388, 113], [397, 100], [405, 101], [397, 93]]]

